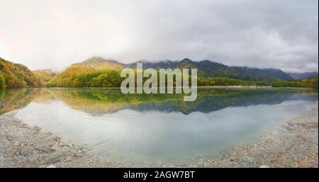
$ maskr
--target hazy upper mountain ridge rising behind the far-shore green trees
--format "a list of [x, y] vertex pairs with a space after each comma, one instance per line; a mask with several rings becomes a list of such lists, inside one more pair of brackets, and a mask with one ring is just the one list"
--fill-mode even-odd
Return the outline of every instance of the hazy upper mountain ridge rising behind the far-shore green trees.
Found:
[[[119, 71], [124, 68], [135, 68], [137, 62], [130, 64], [123, 64], [121, 62], [103, 59], [102, 57], [92, 57], [86, 59], [84, 62], [79, 62], [72, 64], [71, 67], [66, 69], [61, 74], [66, 74], [65, 72], [71, 72], [83, 74], [94, 71], [101, 71], [106, 69]], [[163, 60], [159, 62], [147, 62], [142, 61], [143, 68], [153, 68], [153, 69], [175, 69], [175, 68], [196, 68], [198, 69], [198, 76], [200, 77], [225, 77], [229, 79], [240, 79], [244, 81], [279, 81], [279, 80], [293, 80], [289, 74], [286, 74], [281, 69], [258, 69], [250, 67], [228, 67], [225, 64], [218, 62], [212, 62], [211, 60], [203, 60], [199, 62], [194, 62], [191, 59], [185, 58], [181, 61]], [[79, 71], [77, 71], [77, 69]], [[85, 71], [84, 71], [85, 70]], [[72, 74], [75, 76], [75, 74]], [[55, 77], [61, 77], [57, 74]], [[53, 79], [55, 79], [53, 77]], [[64, 76], [62, 76], [64, 77]]]

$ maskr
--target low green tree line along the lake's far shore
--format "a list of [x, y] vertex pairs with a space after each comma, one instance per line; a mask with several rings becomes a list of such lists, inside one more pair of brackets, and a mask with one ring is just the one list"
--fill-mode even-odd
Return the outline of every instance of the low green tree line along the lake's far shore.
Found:
[[[136, 74], [136, 73], [135, 73]], [[136, 75], [135, 75], [136, 76]], [[61, 79], [49, 81], [48, 87], [120, 87], [125, 78], [121, 77], [121, 71], [105, 70], [78, 74], [72, 79]], [[143, 78], [143, 82], [148, 78]], [[159, 72], [157, 72], [159, 79]], [[136, 79], [135, 79], [136, 81]], [[167, 81], [167, 79], [166, 79]], [[176, 76], [174, 76], [174, 83]], [[159, 83], [159, 81], [157, 81]], [[189, 81], [191, 83], [191, 81]], [[229, 79], [225, 77], [202, 77], [197, 78], [198, 86], [274, 86], [274, 87], [308, 87], [318, 88], [318, 78], [310, 78], [294, 81], [243, 81], [240, 79]], [[136, 85], [136, 83], [135, 83]]]

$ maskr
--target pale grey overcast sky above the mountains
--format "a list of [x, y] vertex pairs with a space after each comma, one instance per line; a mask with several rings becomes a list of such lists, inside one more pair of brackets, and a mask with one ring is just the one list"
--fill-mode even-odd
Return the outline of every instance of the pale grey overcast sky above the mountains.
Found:
[[0, 0], [0, 57], [62, 70], [93, 56], [318, 70], [318, 0]]

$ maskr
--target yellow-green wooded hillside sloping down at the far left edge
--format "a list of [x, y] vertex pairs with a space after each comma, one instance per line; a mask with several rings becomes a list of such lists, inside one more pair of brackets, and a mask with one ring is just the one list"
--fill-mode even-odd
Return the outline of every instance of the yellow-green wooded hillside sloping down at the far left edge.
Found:
[[0, 57], [0, 75], [4, 76], [7, 88], [26, 88], [28, 86], [37, 87], [42, 83], [23, 64], [16, 64], [6, 61]]

